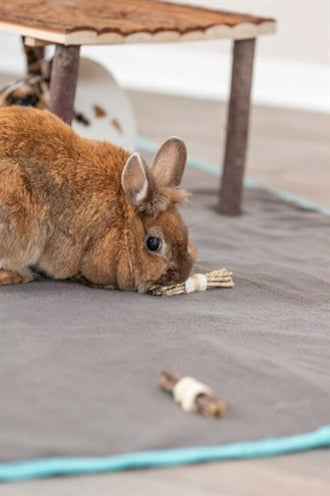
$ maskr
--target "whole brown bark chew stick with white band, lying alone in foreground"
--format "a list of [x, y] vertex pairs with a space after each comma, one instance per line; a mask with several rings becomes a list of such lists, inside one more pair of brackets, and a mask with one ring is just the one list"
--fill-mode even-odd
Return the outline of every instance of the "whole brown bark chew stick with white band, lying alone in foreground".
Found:
[[216, 398], [213, 391], [193, 377], [181, 376], [174, 370], [163, 370], [159, 385], [172, 393], [174, 400], [186, 412], [198, 411], [204, 417], [220, 417], [226, 411], [224, 401]]

